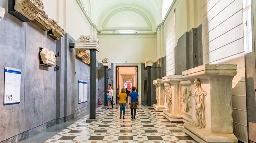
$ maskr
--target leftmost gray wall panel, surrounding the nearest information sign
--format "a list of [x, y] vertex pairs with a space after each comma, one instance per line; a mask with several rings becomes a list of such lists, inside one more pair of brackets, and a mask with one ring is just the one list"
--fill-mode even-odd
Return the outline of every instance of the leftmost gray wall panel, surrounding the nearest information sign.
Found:
[[[8, 1], [0, 0], [8, 9]], [[8, 12], [0, 22], [0, 142], [24, 131], [25, 31], [22, 23]], [[14, 42], [15, 41], [15, 42]], [[21, 103], [4, 105], [4, 68], [21, 69]]]

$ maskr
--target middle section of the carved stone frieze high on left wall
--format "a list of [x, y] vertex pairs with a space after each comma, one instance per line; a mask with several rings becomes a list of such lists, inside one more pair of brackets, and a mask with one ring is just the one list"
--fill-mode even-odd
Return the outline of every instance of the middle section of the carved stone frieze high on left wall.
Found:
[[38, 13], [35, 20], [42, 24], [44, 27], [46, 27], [48, 30], [55, 29], [57, 27], [57, 22], [49, 18], [48, 14], [46, 14], [44, 10]]

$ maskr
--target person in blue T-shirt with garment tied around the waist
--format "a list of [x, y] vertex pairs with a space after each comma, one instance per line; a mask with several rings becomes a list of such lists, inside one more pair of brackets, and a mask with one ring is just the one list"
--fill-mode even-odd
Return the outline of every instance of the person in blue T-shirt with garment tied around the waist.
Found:
[[129, 101], [128, 104], [131, 107], [131, 119], [136, 120], [136, 109], [137, 106], [139, 105], [139, 94], [135, 92], [136, 87], [132, 87], [132, 92], [130, 93]]

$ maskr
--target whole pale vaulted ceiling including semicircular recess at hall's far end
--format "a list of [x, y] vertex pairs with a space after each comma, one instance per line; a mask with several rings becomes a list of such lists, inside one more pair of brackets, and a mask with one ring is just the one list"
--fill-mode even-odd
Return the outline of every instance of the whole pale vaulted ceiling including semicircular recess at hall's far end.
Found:
[[99, 31], [155, 32], [163, 0], [80, 0]]

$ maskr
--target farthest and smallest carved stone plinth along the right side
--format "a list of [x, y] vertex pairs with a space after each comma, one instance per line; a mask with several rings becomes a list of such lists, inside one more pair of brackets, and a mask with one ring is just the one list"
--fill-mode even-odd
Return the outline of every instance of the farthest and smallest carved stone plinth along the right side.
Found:
[[153, 105], [154, 109], [157, 111], [164, 111], [163, 105], [163, 82], [161, 79], [153, 80], [153, 84], [156, 85], [156, 99], [157, 103]]

